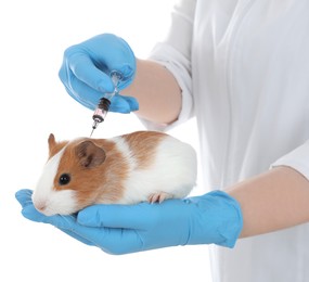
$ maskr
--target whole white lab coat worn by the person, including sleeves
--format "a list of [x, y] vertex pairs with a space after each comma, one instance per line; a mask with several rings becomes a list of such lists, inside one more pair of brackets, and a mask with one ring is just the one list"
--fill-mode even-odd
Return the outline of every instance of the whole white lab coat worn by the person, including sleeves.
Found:
[[[151, 59], [182, 88], [175, 125], [196, 116], [206, 189], [273, 165], [309, 178], [308, 0], [180, 1]], [[211, 246], [211, 268], [216, 282], [309, 281], [309, 225]]]

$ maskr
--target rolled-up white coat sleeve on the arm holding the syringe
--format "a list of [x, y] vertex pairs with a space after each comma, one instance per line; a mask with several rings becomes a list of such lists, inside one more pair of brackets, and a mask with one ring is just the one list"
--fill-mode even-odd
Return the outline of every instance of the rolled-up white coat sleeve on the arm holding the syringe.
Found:
[[182, 107], [178, 119], [170, 125], [157, 125], [141, 118], [149, 129], [169, 130], [193, 116], [191, 44], [195, 0], [179, 1], [173, 7], [166, 38], [154, 47], [149, 56], [149, 60], [164, 65], [175, 76], [182, 92]]

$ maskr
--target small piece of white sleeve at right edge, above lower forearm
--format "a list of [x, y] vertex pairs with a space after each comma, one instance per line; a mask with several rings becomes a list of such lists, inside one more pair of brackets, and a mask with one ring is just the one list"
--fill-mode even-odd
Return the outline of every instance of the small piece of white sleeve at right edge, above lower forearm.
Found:
[[271, 168], [276, 166], [292, 167], [309, 180], [309, 140], [280, 157], [271, 165]]

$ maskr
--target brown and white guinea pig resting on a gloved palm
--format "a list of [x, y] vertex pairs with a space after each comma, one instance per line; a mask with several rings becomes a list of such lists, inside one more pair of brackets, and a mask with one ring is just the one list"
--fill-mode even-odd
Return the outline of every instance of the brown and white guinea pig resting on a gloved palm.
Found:
[[196, 182], [195, 150], [167, 133], [137, 131], [110, 139], [55, 141], [33, 203], [69, 215], [93, 204], [137, 204], [185, 197]]

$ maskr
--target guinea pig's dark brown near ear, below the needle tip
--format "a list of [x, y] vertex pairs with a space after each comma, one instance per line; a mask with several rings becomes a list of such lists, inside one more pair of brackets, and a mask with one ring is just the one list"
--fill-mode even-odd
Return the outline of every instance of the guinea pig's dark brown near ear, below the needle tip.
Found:
[[83, 141], [76, 146], [79, 163], [87, 168], [100, 166], [106, 158], [105, 151], [91, 141]]

